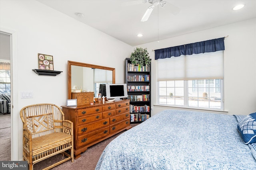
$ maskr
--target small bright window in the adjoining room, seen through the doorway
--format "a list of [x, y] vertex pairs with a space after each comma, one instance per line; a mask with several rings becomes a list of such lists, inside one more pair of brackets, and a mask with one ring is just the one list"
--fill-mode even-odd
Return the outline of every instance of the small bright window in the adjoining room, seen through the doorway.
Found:
[[10, 70], [0, 70], [0, 94], [11, 93]]

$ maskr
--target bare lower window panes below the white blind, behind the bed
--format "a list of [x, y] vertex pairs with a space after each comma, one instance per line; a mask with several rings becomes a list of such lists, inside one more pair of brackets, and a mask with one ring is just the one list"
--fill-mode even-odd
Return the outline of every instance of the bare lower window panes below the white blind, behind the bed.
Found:
[[[194, 82], [198, 84], [194, 85]], [[207, 82], [216, 80], [159, 81], [159, 104], [222, 109], [222, 93], [215, 90], [216, 84], [206, 84]], [[222, 79], [218, 79], [218, 82], [222, 82]]]

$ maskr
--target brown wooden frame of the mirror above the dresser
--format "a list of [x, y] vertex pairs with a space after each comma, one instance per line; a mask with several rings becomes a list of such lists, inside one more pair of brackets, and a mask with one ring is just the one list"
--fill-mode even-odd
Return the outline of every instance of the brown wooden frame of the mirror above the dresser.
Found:
[[72, 92], [71, 92], [71, 66], [82, 66], [82, 67], [89, 67], [89, 68], [98, 68], [102, 70], [110, 70], [112, 71], [112, 84], [116, 83], [116, 69], [111, 67], [105, 66], [98, 66], [94, 64], [86, 64], [86, 63], [79, 63], [76, 61], [68, 61], [68, 99], [72, 99]]

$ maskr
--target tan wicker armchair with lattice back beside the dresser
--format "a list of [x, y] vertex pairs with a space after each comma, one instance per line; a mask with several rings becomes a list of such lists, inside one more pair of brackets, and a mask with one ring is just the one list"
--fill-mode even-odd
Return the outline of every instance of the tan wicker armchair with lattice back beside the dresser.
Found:
[[48, 170], [67, 160], [74, 162], [73, 123], [64, 120], [64, 113], [54, 104], [35, 104], [20, 110], [23, 122], [23, 160], [29, 169], [46, 158], [62, 153], [60, 162], [45, 168]]

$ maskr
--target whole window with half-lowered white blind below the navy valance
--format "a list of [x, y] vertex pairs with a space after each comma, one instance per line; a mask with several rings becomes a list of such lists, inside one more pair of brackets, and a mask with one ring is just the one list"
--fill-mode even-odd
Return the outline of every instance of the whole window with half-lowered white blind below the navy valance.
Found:
[[223, 51], [157, 60], [158, 104], [223, 109]]

